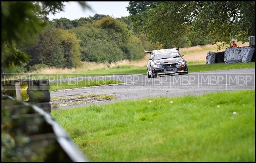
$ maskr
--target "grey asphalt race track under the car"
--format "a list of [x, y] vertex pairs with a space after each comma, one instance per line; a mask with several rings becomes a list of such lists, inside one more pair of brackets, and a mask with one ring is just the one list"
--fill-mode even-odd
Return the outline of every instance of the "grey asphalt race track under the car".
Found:
[[75, 94], [111, 94], [116, 97], [116, 100], [114, 101], [98, 101], [94, 103], [62, 107], [68, 109], [90, 104], [115, 103], [117, 101], [138, 100], [142, 98], [154, 98], [160, 96], [198, 96], [210, 92], [255, 89], [254, 68], [204, 71], [189, 73], [186, 75], [161, 75], [156, 78], [148, 78], [146, 75], [143, 74], [116, 74], [107, 76], [76, 78], [76, 80], [83, 79], [87, 79], [89, 81], [97, 79], [111, 79], [123, 81], [124, 83], [118, 85], [114, 84], [55, 91], [51, 92], [51, 97], [70, 96]]

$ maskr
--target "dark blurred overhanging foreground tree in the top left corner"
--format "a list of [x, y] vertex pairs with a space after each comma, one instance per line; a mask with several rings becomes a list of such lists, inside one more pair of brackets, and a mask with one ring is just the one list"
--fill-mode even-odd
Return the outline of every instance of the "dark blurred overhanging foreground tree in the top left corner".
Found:
[[[89, 8], [85, 2], [79, 2]], [[1, 2], [2, 9], [2, 70], [22, 66], [28, 55], [20, 52], [25, 41], [33, 42], [45, 26], [48, 13], [62, 11], [63, 2]]]

